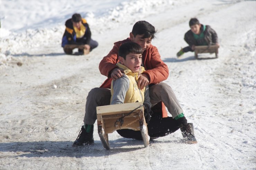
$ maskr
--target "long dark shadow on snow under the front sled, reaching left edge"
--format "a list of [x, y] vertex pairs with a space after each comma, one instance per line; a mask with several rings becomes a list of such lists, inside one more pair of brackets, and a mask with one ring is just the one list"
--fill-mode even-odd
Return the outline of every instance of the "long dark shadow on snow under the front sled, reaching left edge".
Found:
[[[14, 157], [102, 157], [120, 152], [130, 152], [144, 148], [139, 140], [112, 140], [110, 150], [103, 148], [101, 141], [92, 146], [72, 147], [71, 141], [37, 141], [0, 143], [0, 152], [18, 152]], [[19, 153], [25, 152], [25, 153]]]

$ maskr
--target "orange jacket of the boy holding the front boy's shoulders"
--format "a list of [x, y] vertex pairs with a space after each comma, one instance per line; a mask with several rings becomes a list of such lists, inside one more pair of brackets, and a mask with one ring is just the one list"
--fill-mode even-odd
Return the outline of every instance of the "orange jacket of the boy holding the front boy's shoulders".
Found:
[[[103, 57], [99, 64], [100, 73], [104, 76], [107, 76], [107, 80], [101, 84], [101, 88], [111, 87], [111, 71], [115, 68], [118, 62], [118, 49], [122, 43], [131, 41], [130, 38], [127, 38], [123, 41], [118, 41], [114, 43], [113, 49], [108, 53], [106, 57]], [[152, 44], [150, 47], [145, 50], [142, 54], [142, 59], [144, 62], [144, 67], [146, 69], [143, 74], [147, 74], [149, 77], [149, 84], [157, 84], [166, 80], [169, 76], [169, 69], [167, 65], [161, 60], [160, 54], [155, 46]], [[150, 85], [149, 85], [150, 86]], [[153, 108], [153, 112], [162, 113], [162, 117], [167, 117], [167, 112], [163, 102], [157, 103]]]

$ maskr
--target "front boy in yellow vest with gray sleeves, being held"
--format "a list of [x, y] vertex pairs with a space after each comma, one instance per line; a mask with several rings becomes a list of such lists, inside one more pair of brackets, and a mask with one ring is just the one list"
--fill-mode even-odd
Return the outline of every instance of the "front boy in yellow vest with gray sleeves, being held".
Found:
[[146, 122], [150, 120], [150, 98], [148, 86], [138, 87], [138, 75], [145, 71], [141, 66], [143, 49], [135, 42], [123, 43], [118, 50], [116, 64], [124, 70], [123, 76], [111, 82], [110, 104], [143, 102]]

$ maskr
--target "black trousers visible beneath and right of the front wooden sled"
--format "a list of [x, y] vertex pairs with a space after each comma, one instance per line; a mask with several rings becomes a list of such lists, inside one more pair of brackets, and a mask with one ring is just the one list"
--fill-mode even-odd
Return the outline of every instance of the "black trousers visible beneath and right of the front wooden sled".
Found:
[[[176, 121], [172, 117], [151, 118], [148, 123], [148, 135], [150, 137], [163, 137], [180, 129]], [[117, 130], [117, 133], [124, 138], [134, 138], [142, 140], [141, 132], [131, 129]]]

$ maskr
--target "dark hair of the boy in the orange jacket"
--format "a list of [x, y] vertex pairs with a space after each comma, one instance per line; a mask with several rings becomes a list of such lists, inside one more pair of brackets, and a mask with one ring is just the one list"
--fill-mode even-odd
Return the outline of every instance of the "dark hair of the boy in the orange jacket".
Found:
[[136, 37], [137, 35], [144, 35], [142, 38], [154, 38], [154, 34], [157, 31], [147, 21], [138, 21], [134, 24], [131, 33]]

